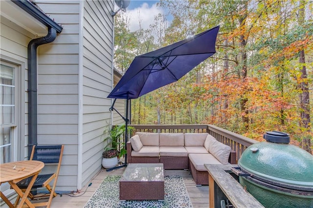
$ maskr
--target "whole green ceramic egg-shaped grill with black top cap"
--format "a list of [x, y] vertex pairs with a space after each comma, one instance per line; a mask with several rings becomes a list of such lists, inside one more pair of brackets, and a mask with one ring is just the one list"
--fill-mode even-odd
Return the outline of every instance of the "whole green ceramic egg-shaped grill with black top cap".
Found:
[[284, 132], [269, 131], [264, 138], [239, 159], [240, 184], [266, 208], [313, 208], [313, 156], [290, 145]]

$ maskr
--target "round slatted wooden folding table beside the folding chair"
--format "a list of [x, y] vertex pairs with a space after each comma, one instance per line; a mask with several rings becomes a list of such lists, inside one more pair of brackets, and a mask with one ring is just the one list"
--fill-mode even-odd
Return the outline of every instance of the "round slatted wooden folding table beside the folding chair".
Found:
[[[36, 160], [25, 160], [0, 165], [0, 184], [8, 182], [21, 197], [20, 203], [16, 205], [17, 208], [21, 208], [24, 203], [26, 203], [28, 207], [34, 208], [34, 205], [32, 205], [31, 202], [27, 199], [27, 195], [44, 166], [45, 164], [43, 162]], [[28, 178], [30, 176], [33, 176], [33, 178], [25, 192], [22, 192], [22, 190], [16, 184], [22, 181], [24, 178]], [[3, 201], [10, 208], [15, 207], [15, 205], [13, 205], [1, 191], [0, 195]]]

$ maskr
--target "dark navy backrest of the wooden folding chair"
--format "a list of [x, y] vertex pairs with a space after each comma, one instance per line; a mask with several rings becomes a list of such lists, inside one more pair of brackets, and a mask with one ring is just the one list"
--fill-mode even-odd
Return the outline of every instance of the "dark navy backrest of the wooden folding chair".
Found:
[[43, 163], [59, 163], [61, 147], [61, 145], [35, 146], [32, 160], [38, 160]]

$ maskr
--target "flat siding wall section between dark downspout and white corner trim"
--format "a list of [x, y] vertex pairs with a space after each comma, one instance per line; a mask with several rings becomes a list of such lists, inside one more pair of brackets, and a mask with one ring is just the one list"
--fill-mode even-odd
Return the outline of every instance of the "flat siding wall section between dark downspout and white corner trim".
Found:
[[63, 30], [38, 52], [38, 144], [65, 145], [59, 191], [76, 190], [79, 126], [79, 0], [35, 0]]

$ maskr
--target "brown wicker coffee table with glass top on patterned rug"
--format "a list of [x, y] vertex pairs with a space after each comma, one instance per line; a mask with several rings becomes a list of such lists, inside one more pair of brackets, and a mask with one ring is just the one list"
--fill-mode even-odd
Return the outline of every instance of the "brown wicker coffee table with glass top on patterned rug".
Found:
[[164, 200], [163, 164], [128, 164], [119, 181], [119, 199]]

